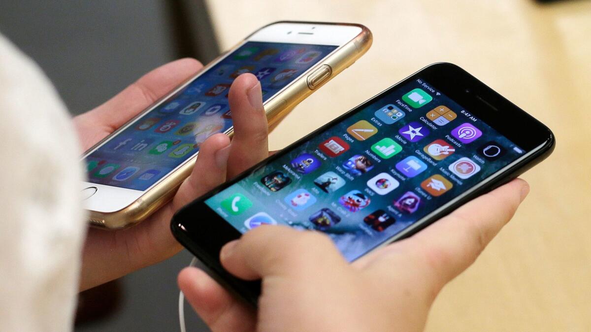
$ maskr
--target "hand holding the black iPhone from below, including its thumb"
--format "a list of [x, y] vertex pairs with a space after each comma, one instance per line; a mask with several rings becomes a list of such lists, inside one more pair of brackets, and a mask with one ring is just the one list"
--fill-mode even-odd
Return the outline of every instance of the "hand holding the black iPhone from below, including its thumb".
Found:
[[186, 268], [185, 297], [213, 331], [421, 331], [437, 294], [511, 219], [529, 191], [514, 180], [426, 229], [349, 264], [329, 237], [261, 226], [222, 248], [223, 266], [262, 279], [258, 313]]

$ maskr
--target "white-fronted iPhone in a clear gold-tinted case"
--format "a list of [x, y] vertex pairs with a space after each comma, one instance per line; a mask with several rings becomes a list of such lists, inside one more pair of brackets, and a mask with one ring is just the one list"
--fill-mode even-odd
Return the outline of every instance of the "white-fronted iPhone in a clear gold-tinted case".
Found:
[[359, 24], [277, 22], [255, 31], [85, 152], [90, 223], [129, 227], [167, 203], [189, 176], [199, 145], [218, 132], [232, 134], [228, 90], [239, 74], [261, 81], [272, 125], [371, 41]]

